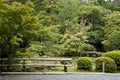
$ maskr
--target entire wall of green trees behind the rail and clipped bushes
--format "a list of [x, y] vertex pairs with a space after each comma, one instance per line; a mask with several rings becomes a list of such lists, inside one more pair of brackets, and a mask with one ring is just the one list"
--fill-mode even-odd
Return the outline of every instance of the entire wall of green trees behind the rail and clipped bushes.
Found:
[[0, 0], [1, 56], [119, 49], [119, 9], [118, 0]]

